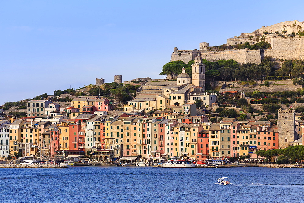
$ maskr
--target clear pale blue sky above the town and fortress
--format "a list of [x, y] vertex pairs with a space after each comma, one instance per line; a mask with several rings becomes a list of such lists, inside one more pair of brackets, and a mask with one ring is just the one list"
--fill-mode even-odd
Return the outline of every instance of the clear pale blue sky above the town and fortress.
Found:
[[226, 43], [278, 22], [304, 21], [303, 2], [0, 2], [0, 105], [54, 90], [162, 78], [173, 48]]

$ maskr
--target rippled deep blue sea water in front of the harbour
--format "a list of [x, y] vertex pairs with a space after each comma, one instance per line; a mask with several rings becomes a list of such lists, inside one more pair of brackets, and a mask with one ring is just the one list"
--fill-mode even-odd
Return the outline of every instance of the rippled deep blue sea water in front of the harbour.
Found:
[[[0, 168], [1, 202], [303, 202], [304, 169]], [[229, 177], [232, 184], [217, 184]]]

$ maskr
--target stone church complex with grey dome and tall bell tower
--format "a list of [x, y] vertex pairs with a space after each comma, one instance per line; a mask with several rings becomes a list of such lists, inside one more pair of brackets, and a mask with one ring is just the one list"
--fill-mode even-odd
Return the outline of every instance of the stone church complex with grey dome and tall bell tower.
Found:
[[194, 64], [192, 64], [192, 78], [183, 68], [177, 81], [145, 81], [137, 89], [136, 97], [128, 104], [136, 104], [137, 108], [147, 111], [193, 104], [196, 99], [200, 99], [203, 105], [210, 106], [216, 101], [216, 94], [205, 92], [205, 64], [202, 63], [202, 60], [199, 54], [195, 57]]

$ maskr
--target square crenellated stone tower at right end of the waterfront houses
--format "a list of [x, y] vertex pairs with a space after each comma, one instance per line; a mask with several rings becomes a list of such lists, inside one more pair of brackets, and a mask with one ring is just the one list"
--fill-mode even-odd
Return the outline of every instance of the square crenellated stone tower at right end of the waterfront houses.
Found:
[[295, 134], [295, 110], [278, 110], [279, 148], [291, 146], [297, 139]]

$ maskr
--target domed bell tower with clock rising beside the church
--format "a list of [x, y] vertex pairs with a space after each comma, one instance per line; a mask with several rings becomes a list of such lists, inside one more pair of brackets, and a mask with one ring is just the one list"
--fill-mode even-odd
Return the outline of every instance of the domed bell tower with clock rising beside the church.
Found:
[[198, 53], [192, 64], [192, 84], [202, 87], [202, 91], [205, 91], [205, 64], [202, 64], [202, 60]]

